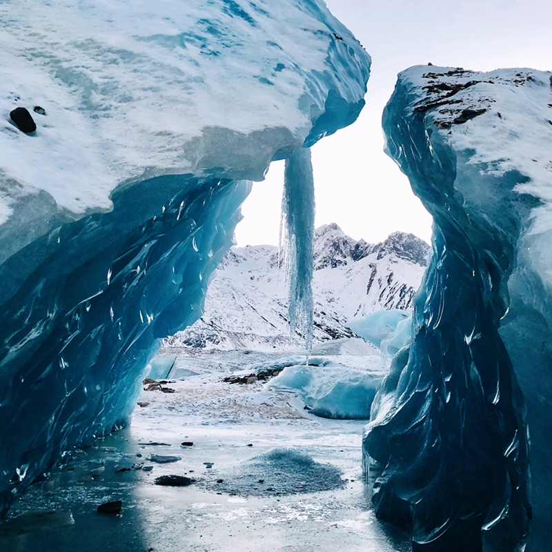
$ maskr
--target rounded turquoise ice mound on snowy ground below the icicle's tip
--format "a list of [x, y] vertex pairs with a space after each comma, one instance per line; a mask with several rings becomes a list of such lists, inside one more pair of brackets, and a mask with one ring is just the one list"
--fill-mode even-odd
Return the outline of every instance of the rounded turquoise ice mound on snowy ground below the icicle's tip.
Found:
[[[266, 384], [276, 391], [297, 391], [311, 413], [337, 420], [369, 420], [370, 408], [382, 382], [381, 364], [377, 357], [364, 359], [371, 371], [361, 371], [358, 357], [304, 357], [290, 359], [294, 364]], [[290, 362], [288, 360], [288, 362]], [[284, 363], [282, 363], [284, 364]], [[282, 364], [280, 366], [282, 366]]]

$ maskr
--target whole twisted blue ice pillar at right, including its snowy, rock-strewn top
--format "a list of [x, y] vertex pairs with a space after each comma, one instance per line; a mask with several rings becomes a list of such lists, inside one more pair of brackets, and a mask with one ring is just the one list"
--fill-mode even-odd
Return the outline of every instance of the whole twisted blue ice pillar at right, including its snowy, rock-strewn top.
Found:
[[377, 515], [414, 551], [547, 550], [552, 74], [415, 66], [383, 126], [434, 224], [364, 435]]

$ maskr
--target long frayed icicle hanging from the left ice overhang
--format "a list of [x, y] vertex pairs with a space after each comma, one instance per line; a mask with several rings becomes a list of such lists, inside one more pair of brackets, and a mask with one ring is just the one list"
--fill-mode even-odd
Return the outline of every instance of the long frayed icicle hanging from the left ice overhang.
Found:
[[[282, 239], [289, 282], [292, 331], [305, 340], [307, 355], [313, 342], [313, 240], [315, 190], [311, 150], [297, 148], [286, 160], [282, 198]], [[280, 244], [282, 249], [282, 244]]]

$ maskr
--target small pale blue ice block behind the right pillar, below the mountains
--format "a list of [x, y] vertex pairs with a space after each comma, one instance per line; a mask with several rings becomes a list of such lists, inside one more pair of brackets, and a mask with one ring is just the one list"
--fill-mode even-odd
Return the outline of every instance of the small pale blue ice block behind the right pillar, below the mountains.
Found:
[[377, 311], [353, 318], [347, 322], [347, 326], [355, 334], [380, 348], [384, 358], [388, 359], [410, 343], [412, 314], [398, 309]]

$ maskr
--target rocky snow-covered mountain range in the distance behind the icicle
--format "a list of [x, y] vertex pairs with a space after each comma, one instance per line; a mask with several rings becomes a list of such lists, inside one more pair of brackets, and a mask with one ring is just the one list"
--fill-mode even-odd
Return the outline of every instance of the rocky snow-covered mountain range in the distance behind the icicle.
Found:
[[[337, 224], [315, 233], [314, 340], [352, 337], [346, 321], [381, 308], [410, 308], [428, 245], [395, 232], [380, 244], [357, 242]], [[165, 339], [168, 347], [273, 350], [302, 345], [290, 335], [283, 263], [275, 246], [233, 247], [219, 264], [204, 315]]]

